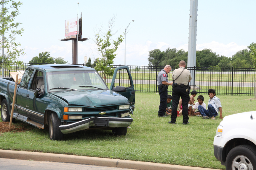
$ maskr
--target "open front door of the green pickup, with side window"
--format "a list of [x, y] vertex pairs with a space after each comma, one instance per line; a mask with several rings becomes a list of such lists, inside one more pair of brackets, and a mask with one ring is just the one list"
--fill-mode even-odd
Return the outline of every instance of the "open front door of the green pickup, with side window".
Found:
[[131, 109], [134, 110], [135, 90], [128, 66], [121, 66], [115, 69], [109, 89], [126, 97], [130, 102]]

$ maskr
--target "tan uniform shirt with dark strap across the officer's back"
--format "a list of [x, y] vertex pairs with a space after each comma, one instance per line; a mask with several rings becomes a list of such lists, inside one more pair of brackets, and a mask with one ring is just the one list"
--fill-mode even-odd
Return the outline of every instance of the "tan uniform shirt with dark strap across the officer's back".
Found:
[[[190, 72], [187, 69], [185, 69], [184, 71], [183, 70], [184, 70], [184, 67], [180, 67], [180, 68], [175, 69], [172, 73], [172, 81], [175, 80], [175, 83], [177, 83], [179, 85], [184, 84], [186, 86], [186, 85], [188, 85], [188, 81], [192, 80], [192, 77], [191, 77]], [[179, 78], [176, 80], [176, 78], [178, 76], [179, 76]]]

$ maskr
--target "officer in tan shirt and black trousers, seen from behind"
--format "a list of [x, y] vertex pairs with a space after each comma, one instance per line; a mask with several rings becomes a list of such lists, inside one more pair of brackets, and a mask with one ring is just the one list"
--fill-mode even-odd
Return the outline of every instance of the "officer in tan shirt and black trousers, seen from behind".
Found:
[[188, 83], [191, 81], [192, 77], [190, 72], [185, 69], [186, 62], [180, 61], [179, 67], [172, 73], [172, 115], [171, 121], [169, 123], [176, 124], [177, 118], [177, 108], [179, 105], [180, 97], [182, 99], [182, 115], [183, 115], [183, 125], [188, 124], [188, 102], [189, 102], [189, 92]]

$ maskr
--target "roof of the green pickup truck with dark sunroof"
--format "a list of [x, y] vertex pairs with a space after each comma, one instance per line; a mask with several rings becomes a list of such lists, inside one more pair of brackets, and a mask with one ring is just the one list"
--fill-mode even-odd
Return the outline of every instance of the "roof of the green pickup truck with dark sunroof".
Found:
[[52, 71], [76, 71], [76, 70], [95, 70], [91, 67], [79, 66], [73, 64], [43, 64], [28, 66], [29, 68], [42, 68], [46, 72]]

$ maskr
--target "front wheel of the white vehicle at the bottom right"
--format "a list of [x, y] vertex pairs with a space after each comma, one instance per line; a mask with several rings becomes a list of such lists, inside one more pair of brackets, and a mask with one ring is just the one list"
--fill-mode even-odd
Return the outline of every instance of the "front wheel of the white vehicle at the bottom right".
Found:
[[256, 147], [239, 145], [231, 149], [226, 158], [226, 170], [256, 169]]

